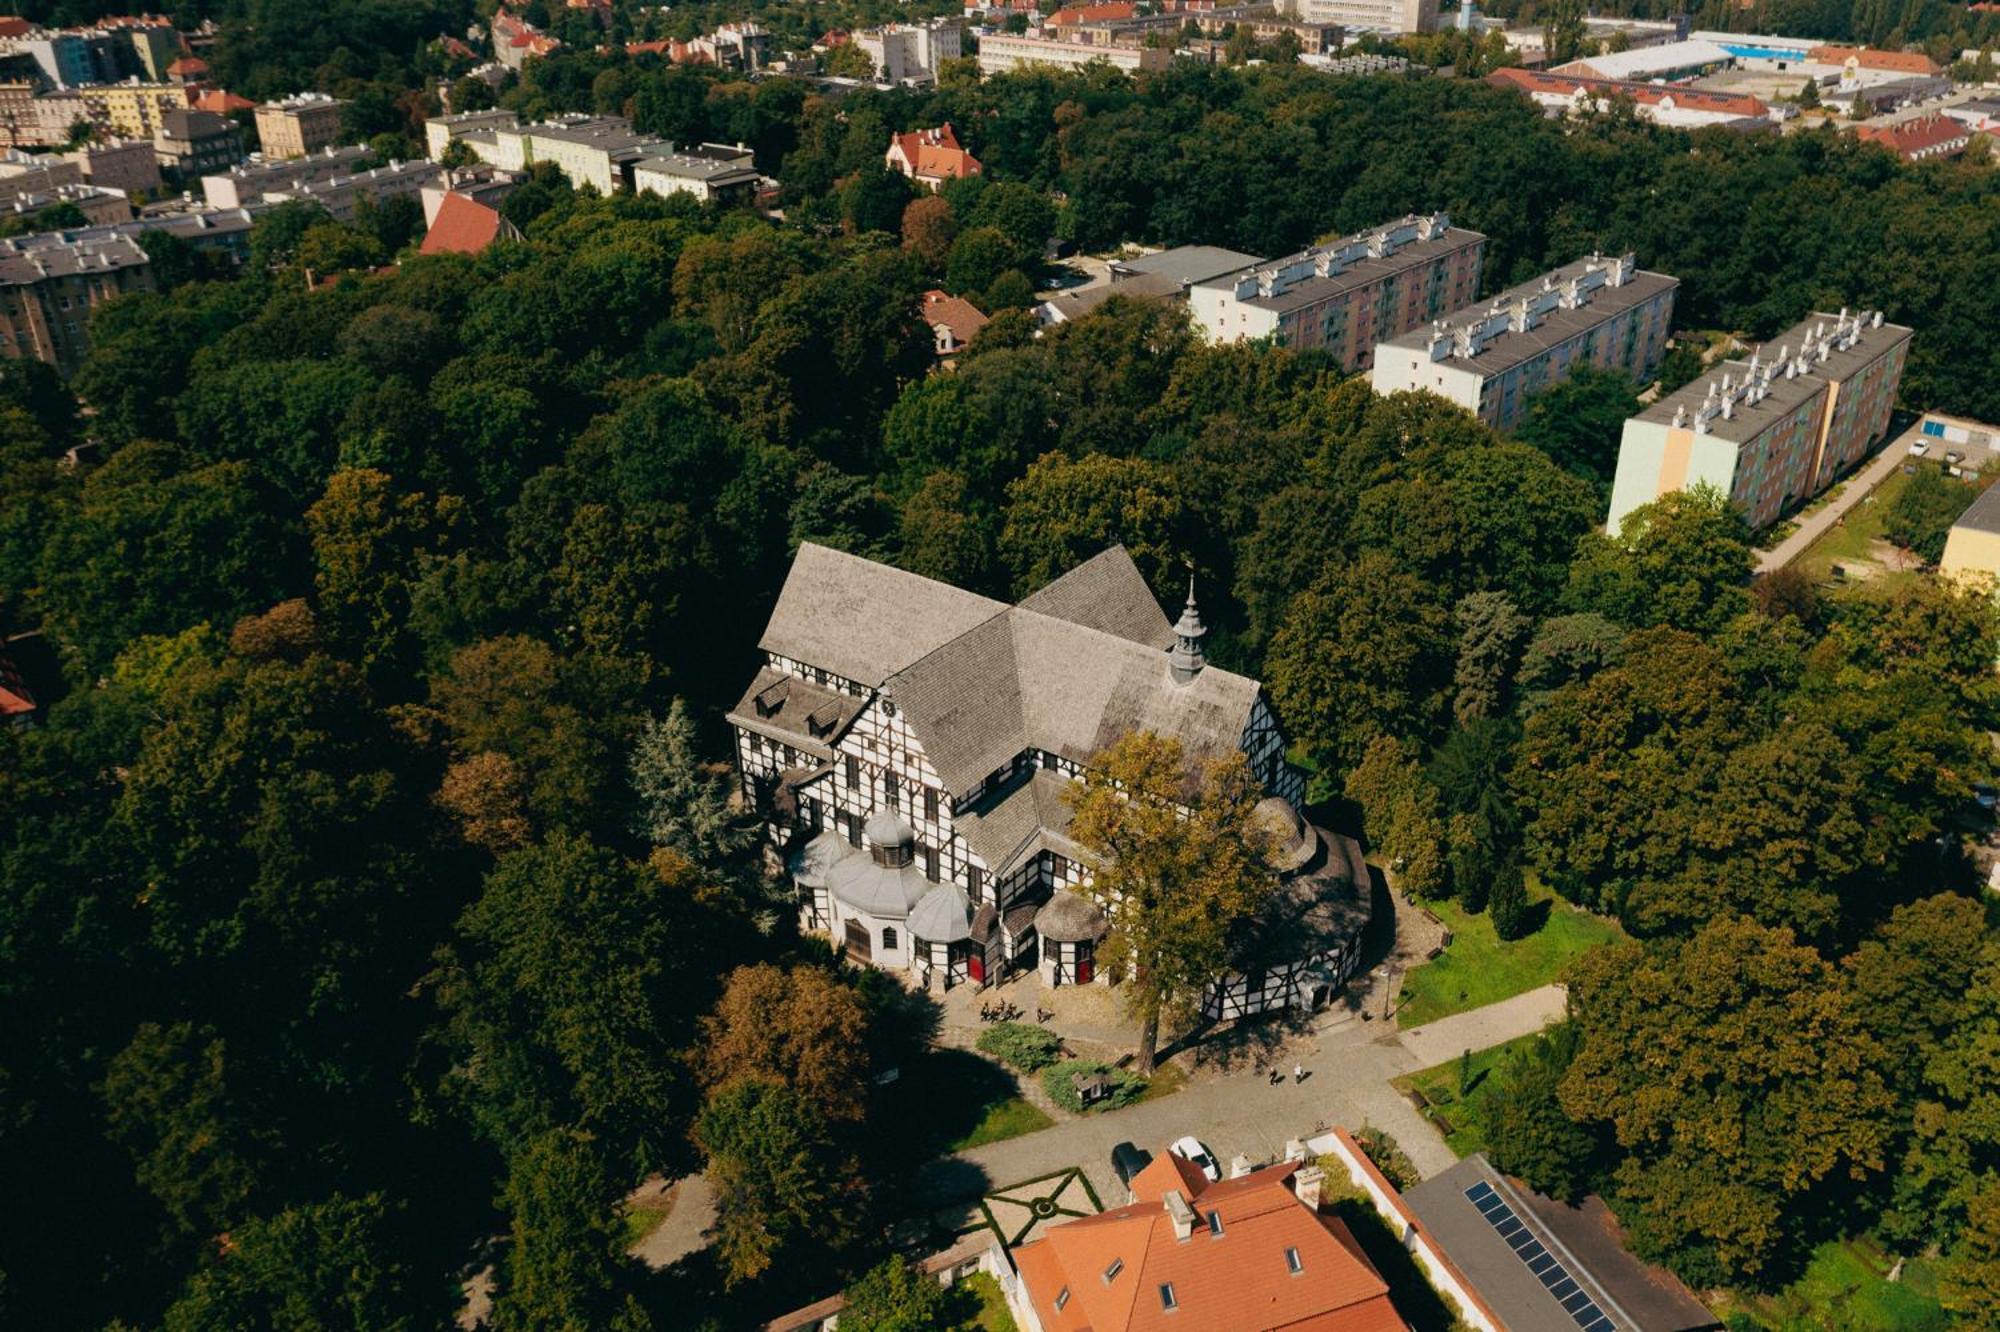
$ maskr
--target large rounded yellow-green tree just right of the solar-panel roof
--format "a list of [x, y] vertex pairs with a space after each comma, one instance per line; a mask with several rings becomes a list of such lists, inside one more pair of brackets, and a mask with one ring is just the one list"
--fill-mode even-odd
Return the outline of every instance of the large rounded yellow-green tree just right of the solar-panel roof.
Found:
[[1570, 1004], [1584, 1042], [1562, 1104], [1624, 1148], [1616, 1208], [1642, 1256], [1754, 1280], [1826, 1220], [1822, 1184], [1884, 1168], [1888, 1054], [1790, 930], [1730, 918], [1584, 954]]

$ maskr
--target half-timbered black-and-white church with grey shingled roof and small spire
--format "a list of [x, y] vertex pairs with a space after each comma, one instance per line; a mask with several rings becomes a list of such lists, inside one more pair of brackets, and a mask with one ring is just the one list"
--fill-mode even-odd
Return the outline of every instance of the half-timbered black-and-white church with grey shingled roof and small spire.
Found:
[[1368, 920], [1360, 850], [1298, 816], [1302, 778], [1256, 680], [1204, 660], [1190, 590], [1168, 624], [1122, 546], [1016, 606], [800, 546], [736, 708], [744, 790], [800, 924], [924, 986], [1104, 980], [1102, 910], [1064, 792], [1134, 730], [1190, 762], [1242, 750], [1284, 880], [1214, 1016], [1320, 1002]]

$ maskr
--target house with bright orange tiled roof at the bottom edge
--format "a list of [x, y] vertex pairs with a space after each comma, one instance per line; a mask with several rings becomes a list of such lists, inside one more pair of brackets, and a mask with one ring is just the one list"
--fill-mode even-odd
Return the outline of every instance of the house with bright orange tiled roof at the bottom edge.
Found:
[[1128, 1206], [1014, 1250], [1022, 1304], [1040, 1332], [1406, 1332], [1320, 1184], [1304, 1162], [1210, 1180], [1162, 1152]]

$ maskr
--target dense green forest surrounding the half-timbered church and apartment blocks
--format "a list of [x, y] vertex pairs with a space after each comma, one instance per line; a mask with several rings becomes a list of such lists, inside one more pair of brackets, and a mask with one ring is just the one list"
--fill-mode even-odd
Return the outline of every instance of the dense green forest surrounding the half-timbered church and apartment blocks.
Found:
[[[924, 1014], [788, 936], [706, 762], [802, 540], [996, 594], [1192, 562], [1412, 886], [1520, 930], [1532, 868], [1640, 940], [1576, 976], [1510, 1168], [1700, 1282], [1874, 1228], [2000, 1316], [2000, 942], [1950, 836], [1992, 606], [1752, 586], [1702, 496], [1596, 534], [1630, 386], [1502, 440], [1172, 308], [1018, 310], [1052, 228], [1448, 208], [1488, 288], [1636, 248], [1684, 326], [1880, 304], [1912, 404], [2000, 418], [1994, 172], [1290, 68], [506, 96], [754, 142], [790, 220], [542, 170], [524, 244], [316, 290], [400, 224], [284, 208], [242, 274], [104, 306], [72, 386], [0, 376], [0, 620], [68, 680], [0, 734], [0, 1324], [432, 1328], [494, 1262], [498, 1328], [734, 1326], [866, 1268], [936, 1144], [852, 1070]], [[912, 200], [886, 134], [940, 118], [988, 178]], [[998, 314], [926, 374], [940, 282]], [[694, 1164], [728, 1226], [644, 1274], [614, 1204]]]

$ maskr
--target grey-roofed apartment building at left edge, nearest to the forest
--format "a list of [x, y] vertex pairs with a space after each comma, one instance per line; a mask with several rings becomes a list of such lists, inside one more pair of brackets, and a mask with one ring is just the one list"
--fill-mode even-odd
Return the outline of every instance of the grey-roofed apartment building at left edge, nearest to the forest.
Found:
[[90, 310], [140, 290], [152, 272], [130, 236], [0, 240], [0, 356], [68, 374], [90, 350]]

